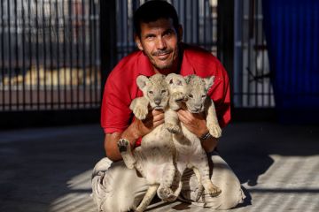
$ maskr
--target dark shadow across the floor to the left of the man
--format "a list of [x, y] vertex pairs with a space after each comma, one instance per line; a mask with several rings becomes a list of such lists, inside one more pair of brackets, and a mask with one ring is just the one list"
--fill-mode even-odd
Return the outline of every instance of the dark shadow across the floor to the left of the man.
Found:
[[60, 206], [74, 207], [58, 198], [91, 192], [82, 186], [89, 179], [72, 179], [90, 172], [104, 155], [103, 136], [99, 125], [0, 132], [0, 211], [50, 211], [57, 200]]

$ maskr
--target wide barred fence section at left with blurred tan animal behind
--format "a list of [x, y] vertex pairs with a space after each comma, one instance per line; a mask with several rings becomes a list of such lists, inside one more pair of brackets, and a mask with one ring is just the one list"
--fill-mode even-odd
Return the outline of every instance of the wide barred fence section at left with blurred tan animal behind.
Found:
[[0, 111], [98, 108], [99, 2], [2, 0]]

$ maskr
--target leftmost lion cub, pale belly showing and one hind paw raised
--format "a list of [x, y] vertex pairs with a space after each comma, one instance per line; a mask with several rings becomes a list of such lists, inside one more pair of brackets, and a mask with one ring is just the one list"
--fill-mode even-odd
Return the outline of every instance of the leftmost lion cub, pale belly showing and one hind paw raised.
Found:
[[[170, 118], [166, 112], [169, 95], [165, 76], [155, 74], [148, 79], [141, 75], [137, 77], [136, 83], [144, 94], [143, 97], [138, 97], [131, 102], [130, 109], [136, 118], [143, 120], [150, 106], [152, 110], [164, 110], [165, 122], [169, 123]], [[136, 211], [144, 211], [156, 193], [163, 201], [175, 201], [177, 195], [171, 189], [176, 172], [175, 148], [172, 135], [167, 131], [165, 125], [159, 125], [151, 133], [146, 134], [141, 147], [134, 151], [131, 150], [128, 140], [125, 139], [118, 141], [118, 147], [127, 167], [136, 168], [150, 185]]]

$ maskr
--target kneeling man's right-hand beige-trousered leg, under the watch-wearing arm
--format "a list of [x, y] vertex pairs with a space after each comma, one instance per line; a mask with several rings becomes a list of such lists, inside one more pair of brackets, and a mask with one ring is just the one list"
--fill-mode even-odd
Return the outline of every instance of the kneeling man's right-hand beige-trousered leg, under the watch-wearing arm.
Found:
[[198, 192], [198, 180], [192, 170], [186, 170], [183, 175], [181, 200], [214, 209], [230, 209], [236, 207], [238, 203], [242, 203], [245, 199], [245, 194], [230, 166], [216, 152], [209, 154], [208, 160], [210, 166], [213, 167], [212, 182], [215, 186], [221, 188], [222, 193], [216, 197], [205, 193], [198, 202], [194, 202]]

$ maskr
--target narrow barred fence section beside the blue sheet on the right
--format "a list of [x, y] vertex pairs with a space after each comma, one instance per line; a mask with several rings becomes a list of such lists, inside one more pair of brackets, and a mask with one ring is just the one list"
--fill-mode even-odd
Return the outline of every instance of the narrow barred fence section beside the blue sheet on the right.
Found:
[[261, 0], [235, 1], [233, 103], [236, 108], [273, 108]]

